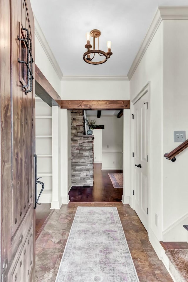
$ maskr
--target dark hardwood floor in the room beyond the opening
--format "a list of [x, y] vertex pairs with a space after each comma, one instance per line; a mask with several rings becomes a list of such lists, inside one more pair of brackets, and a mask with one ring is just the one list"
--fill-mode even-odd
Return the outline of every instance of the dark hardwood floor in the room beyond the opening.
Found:
[[94, 164], [94, 183], [89, 187], [73, 186], [69, 191], [70, 202], [120, 202], [123, 188], [114, 188], [108, 173], [122, 170], [101, 170], [102, 164]]

